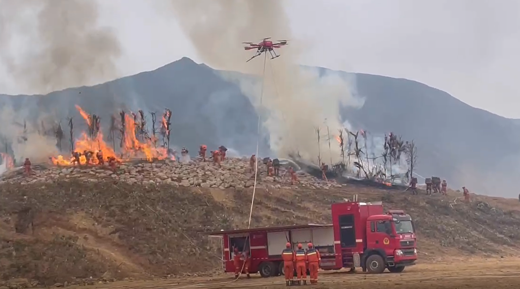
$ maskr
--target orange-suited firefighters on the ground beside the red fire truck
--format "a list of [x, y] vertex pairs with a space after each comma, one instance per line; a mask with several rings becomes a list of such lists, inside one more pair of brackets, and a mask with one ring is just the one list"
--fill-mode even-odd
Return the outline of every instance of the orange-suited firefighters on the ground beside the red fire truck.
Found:
[[[296, 285], [307, 285], [307, 268], [310, 274], [310, 284], [318, 283], [318, 269], [321, 262], [320, 252], [314, 247], [313, 243], [308, 243], [307, 247], [307, 250], [304, 250], [303, 245], [298, 244], [297, 248], [293, 250], [291, 243], [288, 242], [285, 245], [285, 249], [282, 251], [282, 259], [286, 286], [291, 286], [293, 281], [296, 281]], [[233, 253], [235, 278], [238, 278], [241, 272], [244, 272], [250, 278], [251, 257], [248, 252], [240, 253], [239, 249], [235, 247]], [[296, 280], [294, 280], [295, 270]]]

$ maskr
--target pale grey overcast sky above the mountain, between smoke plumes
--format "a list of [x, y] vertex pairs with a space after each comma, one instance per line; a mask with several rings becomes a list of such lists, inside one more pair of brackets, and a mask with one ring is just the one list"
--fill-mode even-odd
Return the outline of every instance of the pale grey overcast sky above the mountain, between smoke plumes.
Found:
[[[161, 0], [92, 1], [100, 3], [99, 25], [118, 35], [119, 76], [183, 56], [200, 62], [172, 14], [150, 4]], [[293, 35], [307, 45], [302, 64], [408, 78], [471, 106], [520, 118], [520, 1], [287, 0], [285, 8]], [[11, 46], [15, 56], [24, 45], [31, 44], [19, 37]], [[27, 91], [14, 85], [5, 65], [0, 68], [0, 92]]]

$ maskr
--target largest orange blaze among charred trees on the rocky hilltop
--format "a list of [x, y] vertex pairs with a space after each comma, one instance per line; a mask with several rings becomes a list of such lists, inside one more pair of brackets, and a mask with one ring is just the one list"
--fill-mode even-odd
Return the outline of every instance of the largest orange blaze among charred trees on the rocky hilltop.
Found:
[[[76, 109], [80, 112], [87, 124], [90, 125], [90, 115], [77, 105]], [[165, 148], [155, 148], [153, 146], [153, 138], [144, 143], [137, 139], [135, 134], [136, 124], [133, 117], [130, 117], [129, 114], [125, 115], [125, 123], [125, 139], [121, 157], [118, 156], [114, 149], [103, 140], [101, 130], [99, 130], [95, 138], [90, 138], [85, 132], [82, 132], [80, 138], [75, 142], [75, 150], [77, 152], [92, 151], [94, 152], [94, 156], [97, 152], [102, 152], [103, 159], [106, 160], [108, 157], [113, 157], [115, 161], [118, 162], [123, 161], [122, 157], [124, 157], [125, 160], [136, 157], [146, 157], [148, 161], [152, 161], [152, 159], [162, 160], [167, 157], [167, 151]], [[74, 163], [73, 157], [63, 157], [62, 155], [51, 157], [51, 160], [56, 165], [72, 165]], [[99, 163], [97, 157], [92, 157], [91, 161], [93, 164]], [[81, 155], [80, 164], [85, 163], [86, 157]]]

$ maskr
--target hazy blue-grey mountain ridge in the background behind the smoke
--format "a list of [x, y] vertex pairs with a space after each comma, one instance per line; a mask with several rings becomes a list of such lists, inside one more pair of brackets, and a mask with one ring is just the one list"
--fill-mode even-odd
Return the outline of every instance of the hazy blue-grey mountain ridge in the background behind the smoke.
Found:
[[[450, 186], [466, 185], [478, 193], [503, 195], [497, 188], [514, 190], [514, 176], [520, 172], [516, 165], [520, 137], [512, 132], [520, 122], [471, 107], [417, 81], [318, 69], [320, 74], [355, 76], [357, 94], [365, 103], [361, 108], [342, 107], [342, 121], [378, 137], [394, 132], [414, 139], [420, 152], [419, 175], [437, 175], [448, 179]], [[256, 111], [240, 87], [225, 80], [222, 72], [183, 57], [155, 70], [94, 86], [45, 96], [0, 95], [0, 103], [25, 111], [24, 117], [48, 111], [61, 120], [79, 116], [74, 108], [78, 104], [100, 115], [105, 128], [110, 115], [121, 108], [158, 113], [170, 108], [176, 146], [194, 151], [200, 143], [208, 147], [225, 144], [251, 154], [256, 148]], [[262, 139], [260, 155], [273, 155], [268, 143], [268, 137]]]

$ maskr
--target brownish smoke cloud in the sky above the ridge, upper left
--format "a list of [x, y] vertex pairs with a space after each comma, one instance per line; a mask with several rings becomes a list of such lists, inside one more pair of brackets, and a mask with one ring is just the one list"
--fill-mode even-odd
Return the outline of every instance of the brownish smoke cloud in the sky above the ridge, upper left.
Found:
[[121, 48], [111, 30], [97, 27], [96, 1], [1, 0], [0, 7], [2, 64], [31, 93], [117, 76]]

